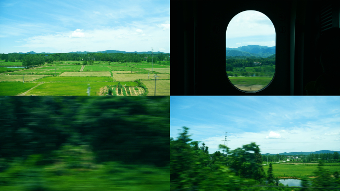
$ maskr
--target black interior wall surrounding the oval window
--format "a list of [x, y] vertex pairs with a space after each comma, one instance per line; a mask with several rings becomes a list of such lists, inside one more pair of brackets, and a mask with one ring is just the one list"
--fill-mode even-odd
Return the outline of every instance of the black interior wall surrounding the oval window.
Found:
[[[171, 95], [306, 95], [322, 74], [314, 58], [322, 1], [171, 1]], [[225, 70], [229, 21], [245, 10], [264, 13], [276, 31], [276, 73], [256, 93], [237, 90]]]

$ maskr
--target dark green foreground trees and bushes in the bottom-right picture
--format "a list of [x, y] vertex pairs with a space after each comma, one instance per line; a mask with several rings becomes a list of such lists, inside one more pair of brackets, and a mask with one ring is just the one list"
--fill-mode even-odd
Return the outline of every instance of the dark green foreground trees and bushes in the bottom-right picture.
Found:
[[[209, 155], [208, 147], [204, 143], [199, 147], [199, 141], [192, 141], [188, 130], [183, 127], [177, 139], [170, 138], [171, 191], [292, 191], [273, 176], [275, 169], [271, 164], [264, 172], [259, 145], [251, 143], [235, 150], [219, 145], [228, 156], [223, 156], [220, 151]], [[339, 173], [332, 176], [322, 166], [320, 162], [312, 185], [303, 179], [302, 187], [340, 187]]]

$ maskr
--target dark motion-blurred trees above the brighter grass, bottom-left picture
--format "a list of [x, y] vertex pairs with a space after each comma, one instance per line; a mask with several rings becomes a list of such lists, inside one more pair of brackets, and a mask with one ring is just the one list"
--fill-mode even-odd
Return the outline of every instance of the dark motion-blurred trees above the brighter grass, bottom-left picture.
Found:
[[169, 96], [7, 96], [0, 119], [0, 160], [90, 145], [97, 163], [169, 165]]

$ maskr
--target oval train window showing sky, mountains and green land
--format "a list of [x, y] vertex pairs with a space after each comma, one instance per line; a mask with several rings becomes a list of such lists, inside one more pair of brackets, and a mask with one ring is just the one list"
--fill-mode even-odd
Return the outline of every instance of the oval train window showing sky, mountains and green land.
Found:
[[254, 93], [275, 75], [275, 28], [263, 13], [247, 10], [235, 15], [226, 31], [226, 75], [235, 88]]

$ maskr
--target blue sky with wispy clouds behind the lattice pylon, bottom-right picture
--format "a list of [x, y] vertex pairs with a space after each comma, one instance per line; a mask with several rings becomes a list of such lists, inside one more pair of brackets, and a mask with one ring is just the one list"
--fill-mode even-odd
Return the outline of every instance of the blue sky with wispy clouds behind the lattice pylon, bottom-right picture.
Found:
[[209, 153], [225, 132], [231, 149], [255, 142], [263, 154], [340, 151], [340, 97], [170, 96], [170, 137], [183, 126]]

